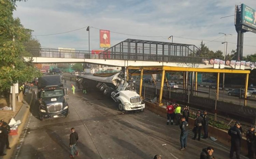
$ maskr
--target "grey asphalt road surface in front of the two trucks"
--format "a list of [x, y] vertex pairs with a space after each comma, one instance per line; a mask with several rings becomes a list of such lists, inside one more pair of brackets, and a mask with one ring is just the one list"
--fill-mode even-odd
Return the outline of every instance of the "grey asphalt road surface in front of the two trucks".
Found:
[[68, 159], [71, 127], [79, 135], [80, 155], [75, 158], [80, 159], [152, 159], [156, 154], [163, 159], [198, 159], [208, 146], [215, 148], [216, 158], [229, 157], [229, 147], [210, 139], [192, 140], [190, 130], [187, 149], [180, 151], [178, 126], [166, 125], [165, 118], [148, 110], [122, 113], [100, 92], [70, 93], [67, 118], [40, 121], [37, 104], [33, 99], [13, 159]]

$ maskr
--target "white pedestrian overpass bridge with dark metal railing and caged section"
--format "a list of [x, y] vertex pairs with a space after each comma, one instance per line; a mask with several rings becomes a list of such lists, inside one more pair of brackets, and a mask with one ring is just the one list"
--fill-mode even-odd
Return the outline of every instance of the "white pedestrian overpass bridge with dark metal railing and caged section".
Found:
[[[28, 52], [31, 53], [33, 63], [41, 64], [89, 63], [118, 67], [172, 66], [217, 68], [217, 65], [208, 65], [211, 59], [202, 57], [201, 50], [195, 45], [138, 39], [126, 39], [109, 49], [102, 50], [102, 52], [41, 48], [30, 48]], [[220, 65], [218, 64], [219, 67]], [[231, 68], [228, 65], [224, 65], [224, 67]]]

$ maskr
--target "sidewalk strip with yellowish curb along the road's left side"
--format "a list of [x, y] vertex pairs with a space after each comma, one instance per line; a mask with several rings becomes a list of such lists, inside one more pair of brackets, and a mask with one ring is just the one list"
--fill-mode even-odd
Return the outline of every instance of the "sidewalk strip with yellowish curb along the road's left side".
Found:
[[[30, 104], [33, 98], [33, 93], [31, 96], [31, 100], [30, 100]], [[19, 109], [18, 113], [16, 114], [16, 116], [14, 117], [14, 119], [16, 121], [20, 120], [21, 124], [18, 126], [18, 134], [14, 135], [14, 136], [10, 136], [9, 135], [9, 143], [10, 143], [10, 147], [11, 149], [5, 149], [5, 156], [1, 156], [0, 159], [10, 159], [12, 157], [12, 154], [14, 152], [14, 149], [16, 148], [16, 143], [19, 139], [20, 134], [22, 133], [22, 130], [25, 126], [28, 114], [29, 114], [29, 110], [30, 110], [30, 105], [23, 100], [23, 105], [21, 106], [21, 108]]]

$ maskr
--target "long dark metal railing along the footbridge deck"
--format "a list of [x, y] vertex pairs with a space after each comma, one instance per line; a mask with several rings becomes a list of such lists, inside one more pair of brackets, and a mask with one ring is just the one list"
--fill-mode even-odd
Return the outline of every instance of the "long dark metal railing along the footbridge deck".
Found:
[[169, 56], [157, 54], [125, 53], [125, 52], [92, 52], [85, 50], [59, 50], [59, 49], [34, 49], [27, 51], [33, 57], [49, 58], [77, 58], [77, 59], [116, 59], [116, 60], [139, 60], [139, 61], [161, 61], [179, 63], [203, 63], [207, 60], [202, 57], [191, 56]]

